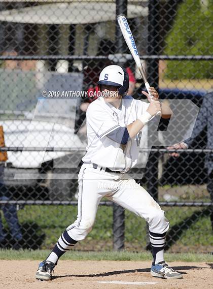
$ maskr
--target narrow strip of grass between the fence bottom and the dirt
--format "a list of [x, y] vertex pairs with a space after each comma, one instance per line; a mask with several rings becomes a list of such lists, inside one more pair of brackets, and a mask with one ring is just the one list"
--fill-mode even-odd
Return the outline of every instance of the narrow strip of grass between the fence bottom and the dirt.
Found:
[[[43, 260], [49, 254], [49, 250], [0, 250], [2, 260]], [[196, 253], [165, 253], [167, 262], [213, 262], [211, 254]], [[128, 252], [128, 251], [102, 251], [102, 252], [82, 252], [69, 251], [61, 257], [61, 260], [114, 260], [114, 261], [152, 261], [149, 252]]]

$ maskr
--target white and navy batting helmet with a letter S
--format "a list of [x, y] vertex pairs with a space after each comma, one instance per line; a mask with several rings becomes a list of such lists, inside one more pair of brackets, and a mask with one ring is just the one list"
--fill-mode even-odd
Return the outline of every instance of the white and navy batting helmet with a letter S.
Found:
[[101, 71], [97, 84], [118, 86], [119, 94], [125, 96], [129, 89], [129, 76], [120, 66], [110, 65]]

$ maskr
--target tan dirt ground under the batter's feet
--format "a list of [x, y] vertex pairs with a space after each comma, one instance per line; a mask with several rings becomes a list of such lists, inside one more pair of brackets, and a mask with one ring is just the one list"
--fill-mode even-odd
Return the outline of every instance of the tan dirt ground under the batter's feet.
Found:
[[[1, 289], [211, 289], [212, 266], [204, 262], [172, 262], [169, 265], [183, 273], [183, 279], [165, 280], [150, 275], [150, 262], [132, 261], [60, 261], [52, 281], [38, 281], [34, 274], [37, 261], [1, 260]], [[100, 281], [152, 282], [144, 284], [100, 283]], [[153, 284], [154, 283], [154, 284]]]

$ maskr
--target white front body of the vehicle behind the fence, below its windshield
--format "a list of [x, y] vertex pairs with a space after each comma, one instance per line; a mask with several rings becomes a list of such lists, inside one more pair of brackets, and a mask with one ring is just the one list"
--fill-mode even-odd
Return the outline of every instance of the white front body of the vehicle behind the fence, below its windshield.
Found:
[[76, 176], [72, 173], [78, 173], [84, 153], [78, 154], [78, 149], [85, 149], [74, 129], [47, 121], [5, 120], [1, 124], [7, 147], [74, 149], [73, 152], [8, 151], [5, 183], [11, 189], [25, 191], [25, 197], [40, 199], [47, 195], [50, 200], [72, 199], [77, 189]]

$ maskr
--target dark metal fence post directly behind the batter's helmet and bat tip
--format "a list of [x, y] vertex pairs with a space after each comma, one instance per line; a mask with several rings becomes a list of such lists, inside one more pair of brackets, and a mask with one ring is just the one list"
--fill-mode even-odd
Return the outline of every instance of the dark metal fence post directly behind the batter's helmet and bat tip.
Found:
[[[118, 25], [117, 16], [127, 15], [127, 0], [116, 0], [116, 47], [117, 53], [124, 53], [126, 44]], [[119, 63], [118, 63], [119, 64]], [[124, 249], [125, 211], [121, 206], [113, 204], [113, 249]]]

